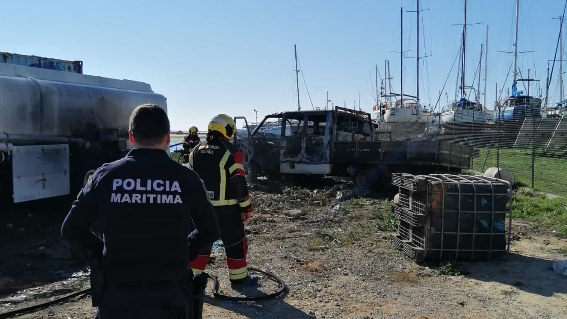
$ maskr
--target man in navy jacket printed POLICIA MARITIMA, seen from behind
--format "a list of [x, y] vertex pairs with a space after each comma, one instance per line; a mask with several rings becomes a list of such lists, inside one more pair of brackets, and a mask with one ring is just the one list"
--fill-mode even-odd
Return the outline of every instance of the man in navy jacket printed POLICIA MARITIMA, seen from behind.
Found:
[[61, 227], [79, 254], [102, 261], [104, 288], [92, 296], [101, 297], [100, 319], [184, 319], [187, 263], [220, 236], [199, 176], [168, 156], [169, 132], [162, 108], [138, 106], [130, 116], [134, 149], [96, 170]]

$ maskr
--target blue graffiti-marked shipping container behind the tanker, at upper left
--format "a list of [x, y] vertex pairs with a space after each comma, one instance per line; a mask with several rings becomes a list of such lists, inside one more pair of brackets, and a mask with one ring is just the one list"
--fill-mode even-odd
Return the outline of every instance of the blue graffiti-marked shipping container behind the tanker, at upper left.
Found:
[[15, 54], [2, 52], [1, 62], [7, 64], [32, 66], [33, 68], [58, 70], [71, 73], [83, 73], [83, 61], [66, 61], [56, 58], [26, 56], [24, 54]]

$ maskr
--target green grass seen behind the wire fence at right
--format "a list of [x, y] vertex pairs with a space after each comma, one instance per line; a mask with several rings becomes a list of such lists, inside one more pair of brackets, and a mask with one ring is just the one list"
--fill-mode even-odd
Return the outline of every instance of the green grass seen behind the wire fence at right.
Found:
[[[484, 173], [496, 167], [497, 150], [475, 149], [478, 157], [473, 159], [471, 169]], [[499, 167], [514, 173], [516, 186], [531, 187], [532, 155], [530, 149], [501, 149]], [[538, 153], [534, 161], [534, 188], [556, 195], [567, 195], [567, 158], [561, 153]], [[485, 164], [486, 160], [486, 164]]]

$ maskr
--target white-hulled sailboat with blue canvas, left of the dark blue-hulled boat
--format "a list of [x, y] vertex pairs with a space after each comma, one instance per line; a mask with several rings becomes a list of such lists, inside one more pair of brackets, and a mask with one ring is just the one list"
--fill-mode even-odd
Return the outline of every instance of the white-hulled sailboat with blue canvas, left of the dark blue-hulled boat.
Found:
[[[485, 123], [488, 114], [480, 103], [467, 99], [467, 86], [465, 86], [465, 52], [467, 40], [467, 0], [464, 0], [463, 40], [461, 47], [461, 85], [460, 100], [451, 103], [450, 110], [441, 113], [441, 123]], [[479, 70], [480, 71], [480, 70]]]

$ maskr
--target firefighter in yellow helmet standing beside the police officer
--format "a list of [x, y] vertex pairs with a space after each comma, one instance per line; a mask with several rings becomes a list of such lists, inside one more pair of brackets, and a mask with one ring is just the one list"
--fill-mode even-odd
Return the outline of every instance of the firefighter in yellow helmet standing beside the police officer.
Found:
[[[205, 182], [217, 213], [232, 288], [250, 287], [261, 277], [249, 275], [246, 262], [244, 223], [251, 215], [252, 204], [242, 164], [242, 151], [230, 142], [236, 124], [230, 116], [219, 114], [210, 120], [208, 128], [206, 141], [193, 148], [188, 166]], [[210, 253], [210, 249], [205, 250], [189, 264], [194, 274], [205, 270]]]

